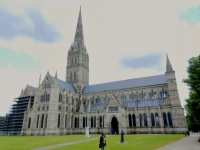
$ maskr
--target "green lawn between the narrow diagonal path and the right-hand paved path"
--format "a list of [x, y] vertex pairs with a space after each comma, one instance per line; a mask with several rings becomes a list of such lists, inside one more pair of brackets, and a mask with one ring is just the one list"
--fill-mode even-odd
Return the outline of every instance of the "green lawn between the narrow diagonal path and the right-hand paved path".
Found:
[[[136, 134], [125, 135], [125, 143], [120, 144], [120, 135], [108, 136], [106, 138], [106, 150], [156, 150], [159, 147], [165, 146], [173, 141], [183, 138], [184, 135], [151, 135], [151, 134]], [[94, 140], [86, 143], [71, 145], [67, 147], [57, 148], [56, 150], [95, 150], [98, 148], [99, 140]], [[100, 150], [100, 149], [99, 149]]]

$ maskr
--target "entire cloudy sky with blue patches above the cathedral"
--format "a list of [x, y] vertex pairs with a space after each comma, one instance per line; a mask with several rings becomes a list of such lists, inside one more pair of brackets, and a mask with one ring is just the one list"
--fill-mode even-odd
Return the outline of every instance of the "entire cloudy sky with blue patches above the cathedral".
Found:
[[184, 107], [182, 80], [200, 53], [199, 0], [0, 0], [0, 116], [40, 74], [65, 80], [80, 5], [89, 84], [164, 74], [168, 54]]

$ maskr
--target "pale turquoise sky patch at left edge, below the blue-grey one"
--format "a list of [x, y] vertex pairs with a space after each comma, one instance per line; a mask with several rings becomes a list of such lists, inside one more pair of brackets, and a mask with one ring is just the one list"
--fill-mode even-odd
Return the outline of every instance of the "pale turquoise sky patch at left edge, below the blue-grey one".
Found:
[[0, 48], [0, 68], [40, 69], [43, 63], [25, 53], [18, 53], [8, 48]]

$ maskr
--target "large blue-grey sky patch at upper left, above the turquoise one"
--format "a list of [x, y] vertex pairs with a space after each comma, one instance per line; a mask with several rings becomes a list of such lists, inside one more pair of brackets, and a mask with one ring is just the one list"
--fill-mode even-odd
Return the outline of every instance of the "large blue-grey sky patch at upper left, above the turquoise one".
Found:
[[12, 40], [17, 37], [28, 37], [44, 43], [54, 43], [62, 38], [39, 10], [28, 10], [26, 15], [16, 15], [0, 6], [0, 38]]

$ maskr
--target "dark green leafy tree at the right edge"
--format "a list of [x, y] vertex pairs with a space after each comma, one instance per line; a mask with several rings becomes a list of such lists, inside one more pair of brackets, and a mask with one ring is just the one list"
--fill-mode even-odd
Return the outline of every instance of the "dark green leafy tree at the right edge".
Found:
[[190, 130], [200, 130], [200, 55], [190, 58], [188, 62], [188, 79], [183, 79], [190, 90], [185, 105], [187, 123]]

